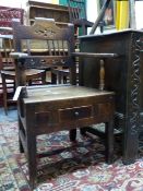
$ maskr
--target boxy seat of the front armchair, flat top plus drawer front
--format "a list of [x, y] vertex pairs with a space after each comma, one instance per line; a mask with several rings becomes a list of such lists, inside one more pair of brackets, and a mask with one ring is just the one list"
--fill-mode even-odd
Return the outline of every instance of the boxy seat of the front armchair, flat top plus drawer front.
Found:
[[107, 91], [76, 85], [27, 86], [22, 110], [26, 116], [33, 112], [33, 124], [40, 127], [34, 126], [33, 131], [43, 134], [107, 122], [112, 118], [112, 103], [114, 93]]

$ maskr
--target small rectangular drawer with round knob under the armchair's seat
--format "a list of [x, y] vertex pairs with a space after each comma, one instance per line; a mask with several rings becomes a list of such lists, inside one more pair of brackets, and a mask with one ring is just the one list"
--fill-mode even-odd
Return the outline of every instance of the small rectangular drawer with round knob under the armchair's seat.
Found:
[[59, 122], [75, 121], [79, 119], [91, 118], [91, 117], [93, 117], [93, 107], [91, 105], [59, 109]]

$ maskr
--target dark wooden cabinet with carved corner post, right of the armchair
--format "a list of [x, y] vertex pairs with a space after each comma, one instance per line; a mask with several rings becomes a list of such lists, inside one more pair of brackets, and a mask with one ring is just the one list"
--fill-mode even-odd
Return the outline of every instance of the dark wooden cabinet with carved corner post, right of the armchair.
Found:
[[[123, 132], [123, 163], [138, 158], [139, 134], [143, 131], [143, 32], [128, 29], [80, 37], [83, 52], [112, 52], [119, 59], [105, 60], [105, 89], [116, 93], [115, 128]], [[97, 59], [83, 58], [80, 84], [98, 87]]]

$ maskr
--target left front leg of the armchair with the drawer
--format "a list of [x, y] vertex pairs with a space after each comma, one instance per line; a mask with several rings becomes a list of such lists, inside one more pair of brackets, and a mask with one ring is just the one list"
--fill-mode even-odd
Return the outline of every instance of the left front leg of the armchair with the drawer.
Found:
[[34, 189], [37, 183], [36, 136], [27, 132], [26, 139], [29, 186]]

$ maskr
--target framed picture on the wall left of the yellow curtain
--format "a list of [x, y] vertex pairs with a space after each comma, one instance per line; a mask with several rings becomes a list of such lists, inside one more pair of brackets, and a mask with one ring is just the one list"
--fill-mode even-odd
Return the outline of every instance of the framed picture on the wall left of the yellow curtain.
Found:
[[[104, 3], [105, 3], [105, 0], [98, 0], [99, 11], [103, 8]], [[108, 8], [106, 9], [102, 23], [103, 23], [104, 29], [115, 28], [115, 3], [114, 1], [110, 1]]]

